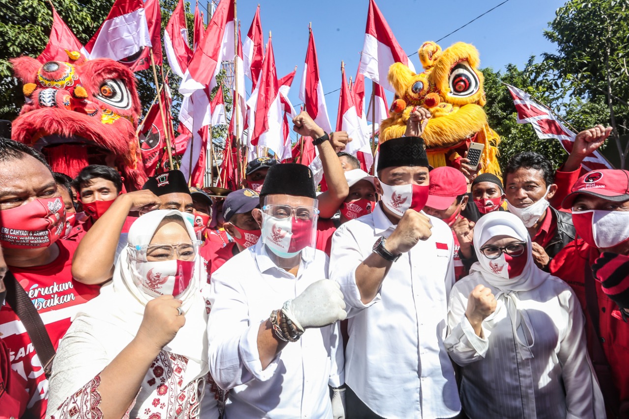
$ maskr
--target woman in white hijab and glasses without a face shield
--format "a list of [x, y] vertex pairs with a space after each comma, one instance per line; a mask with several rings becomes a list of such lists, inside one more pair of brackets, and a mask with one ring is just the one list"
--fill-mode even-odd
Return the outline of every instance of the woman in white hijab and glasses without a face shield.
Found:
[[605, 418], [579, 301], [535, 265], [522, 221], [484, 215], [474, 249], [479, 261], [450, 291], [444, 342], [462, 367], [467, 416]]

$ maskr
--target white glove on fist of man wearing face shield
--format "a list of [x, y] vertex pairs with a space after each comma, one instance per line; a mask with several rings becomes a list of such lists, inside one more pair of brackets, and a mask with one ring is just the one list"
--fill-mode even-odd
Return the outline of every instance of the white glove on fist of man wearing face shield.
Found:
[[340, 286], [330, 279], [310, 284], [295, 299], [286, 301], [283, 310], [298, 328], [323, 327], [347, 317]]

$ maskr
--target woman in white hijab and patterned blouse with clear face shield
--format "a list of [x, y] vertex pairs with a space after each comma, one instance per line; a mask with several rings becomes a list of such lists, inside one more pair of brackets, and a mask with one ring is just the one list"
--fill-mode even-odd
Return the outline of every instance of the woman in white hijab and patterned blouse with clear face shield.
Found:
[[209, 371], [199, 244], [177, 210], [152, 211], [131, 225], [113, 281], [59, 345], [48, 417], [199, 415]]

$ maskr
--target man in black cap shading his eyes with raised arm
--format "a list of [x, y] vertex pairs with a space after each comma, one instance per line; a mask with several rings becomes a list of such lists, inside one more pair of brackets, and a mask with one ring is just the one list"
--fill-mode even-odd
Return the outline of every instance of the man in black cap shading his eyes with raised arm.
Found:
[[[118, 255], [126, 246], [123, 226], [131, 211], [179, 210], [194, 225], [194, 207], [184, 174], [170, 170], [149, 177], [142, 191], [122, 194], [82, 238], [72, 261], [72, 275], [79, 281], [108, 281]], [[94, 249], [98, 254], [94, 255]], [[97, 257], [96, 257], [97, 256]]]

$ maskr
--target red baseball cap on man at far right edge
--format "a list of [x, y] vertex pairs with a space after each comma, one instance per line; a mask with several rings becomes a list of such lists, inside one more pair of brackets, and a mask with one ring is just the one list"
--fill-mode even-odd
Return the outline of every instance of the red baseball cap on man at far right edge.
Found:
[[603, 169], [587, 172], [572, 186], [572, 192], [561, 203], [562, 208], [572, 208], [579, 194], [596, 196], [612, 202], [629, 200], [629, 170]]

